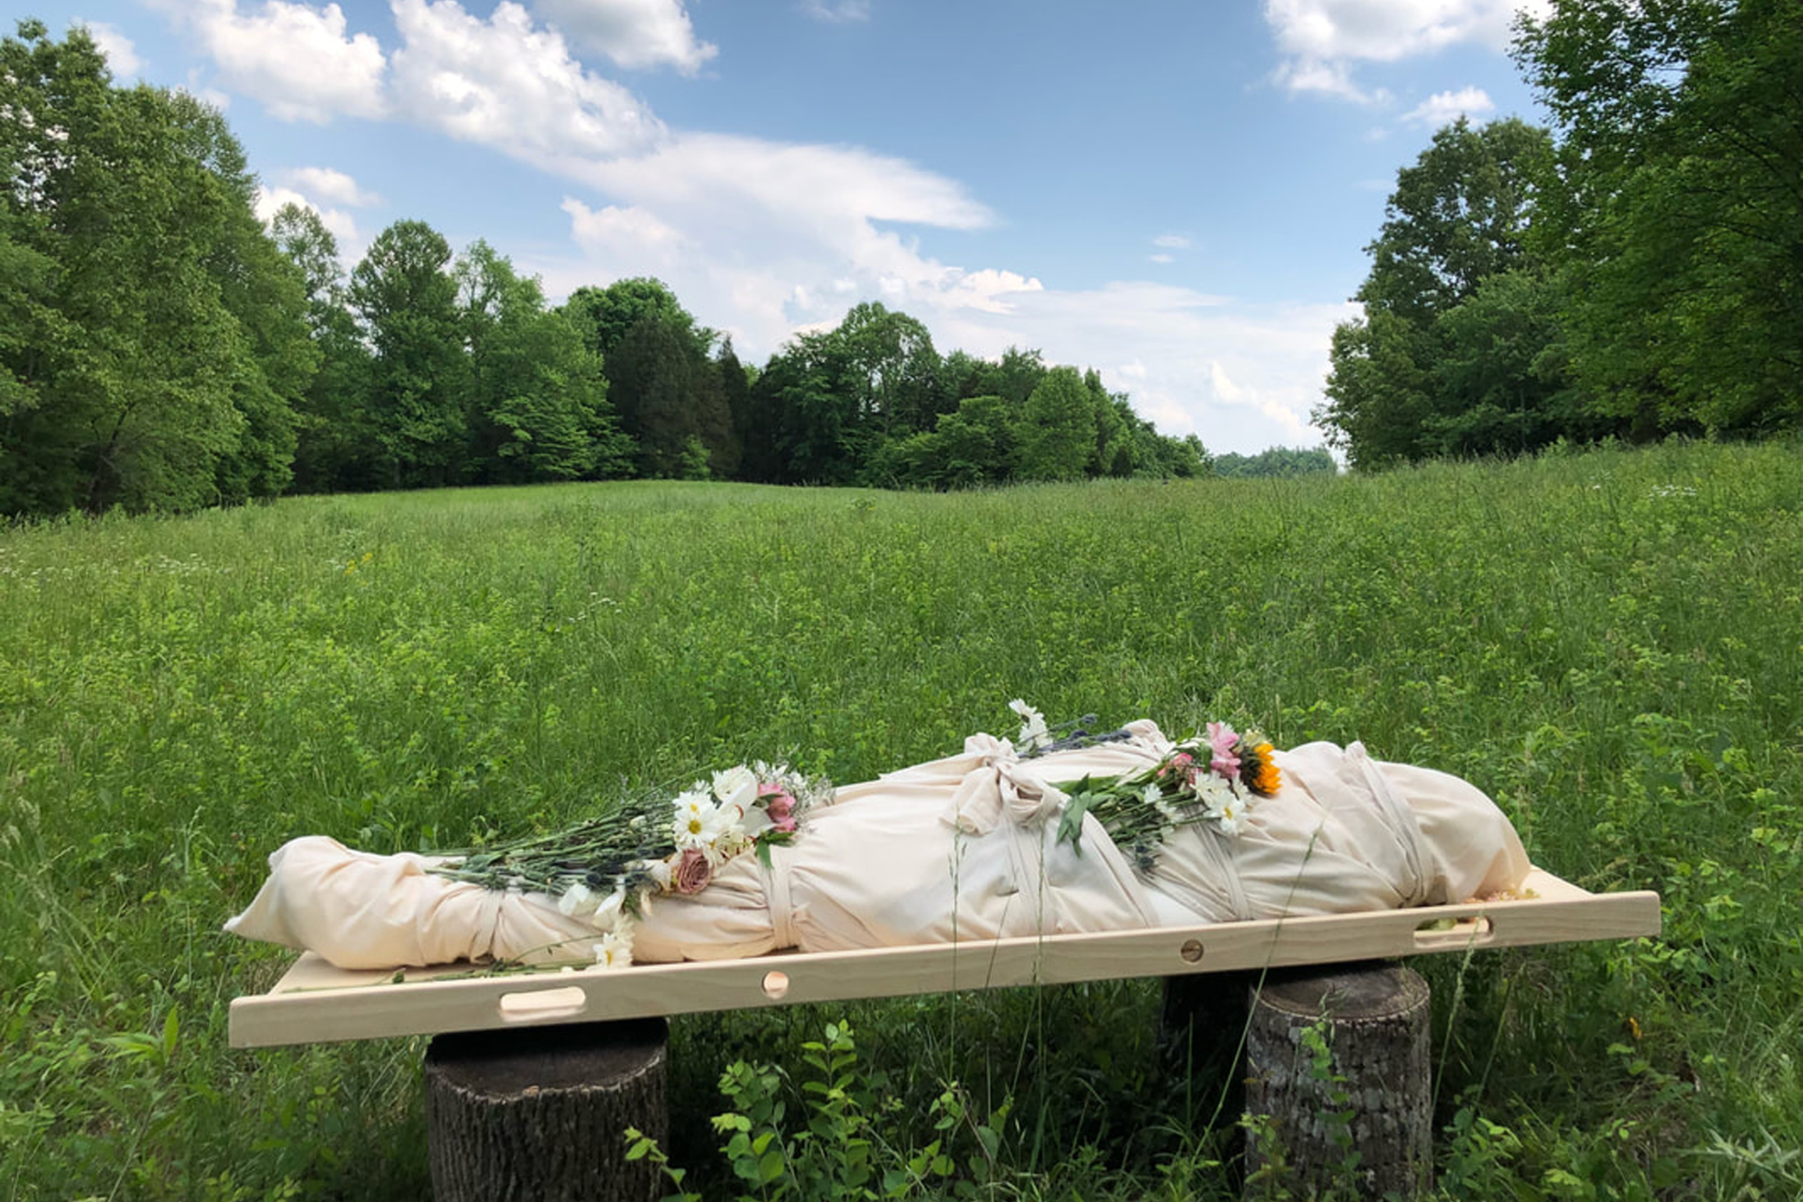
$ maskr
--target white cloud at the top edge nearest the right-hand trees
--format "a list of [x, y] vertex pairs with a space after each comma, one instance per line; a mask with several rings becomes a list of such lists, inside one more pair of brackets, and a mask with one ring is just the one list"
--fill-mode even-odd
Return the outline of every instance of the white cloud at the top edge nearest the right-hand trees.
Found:
[[1278, 83], [1359, 103], [1388, 94], [1352, 81], [1354, 63], [1394, 63], [1459, 43], [1506, 49], [1518, 9], [1545, 16], [1549, 0], [1266, 0], [1264, 20], [1284, 56]]

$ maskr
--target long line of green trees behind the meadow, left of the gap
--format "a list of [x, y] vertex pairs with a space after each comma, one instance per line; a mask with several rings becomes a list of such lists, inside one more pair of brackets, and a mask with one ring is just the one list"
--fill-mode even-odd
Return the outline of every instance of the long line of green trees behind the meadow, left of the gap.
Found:
[[1094, 371], [941, 355], [858, 305], [766, 364], [654, 279], [550, 305], [485, 241], [265, 227], [224, 117], [117, 88], [81, 29], [0, 43], [0, 514], [682, 478], [965, 488], [1199, 476]]

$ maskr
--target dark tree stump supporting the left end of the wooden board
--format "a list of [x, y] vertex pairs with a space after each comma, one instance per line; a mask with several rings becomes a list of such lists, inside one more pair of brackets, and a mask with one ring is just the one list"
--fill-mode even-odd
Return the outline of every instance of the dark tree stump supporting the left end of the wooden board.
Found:
[[626, 1128], [669, 1139], [662, 1018], [440, 1034], [426, 1049], [438, 1202], [654, 1202]]

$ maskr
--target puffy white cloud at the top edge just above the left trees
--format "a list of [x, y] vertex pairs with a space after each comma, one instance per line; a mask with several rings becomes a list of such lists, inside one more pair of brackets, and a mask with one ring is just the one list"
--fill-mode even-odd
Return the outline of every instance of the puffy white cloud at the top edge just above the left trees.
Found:
[[265, 0], [249, 13], [236, 0], [150, 4], [200, 34], [227, 88], [256, 97], [281, 121], [382, 115], [382, 47], [371, 34], [348, 34], [335, 4]]

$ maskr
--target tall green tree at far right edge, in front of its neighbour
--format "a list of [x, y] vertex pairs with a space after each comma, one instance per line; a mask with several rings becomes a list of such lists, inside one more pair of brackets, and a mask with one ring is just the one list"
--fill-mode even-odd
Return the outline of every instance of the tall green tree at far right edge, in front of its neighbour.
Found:
[[1639, 434], [1803, 422], [1803, 4], [1569, 0], [1516, 58], [1563, 133], [1536, 243], [1572, 360]]

